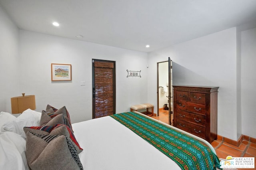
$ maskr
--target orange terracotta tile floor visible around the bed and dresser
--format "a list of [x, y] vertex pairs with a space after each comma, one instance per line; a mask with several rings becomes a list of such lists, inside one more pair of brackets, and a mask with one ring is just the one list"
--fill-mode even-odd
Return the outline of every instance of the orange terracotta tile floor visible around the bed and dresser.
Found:
[[[164, 123], [169, 123], [169, 113], [166, 110], [159, 111], [159, 117], [152, 116], [152, 118], [160, 120]], [[256, 143], [243, 140], [240, 146], [233, 146], [232, 144], [224, 142], [222, 139], [217, 139], [212, 142], [212, 146], [216, 150], [218, 158], [225, 159], [227, 156], [232, 157], [255, 157], [256, 160]], [[256, 167], [255, 167], [256, 169]], [[246, 170], [246, 169], [241, 169]], [[252, 170], [252, 169], [248, 169]]]

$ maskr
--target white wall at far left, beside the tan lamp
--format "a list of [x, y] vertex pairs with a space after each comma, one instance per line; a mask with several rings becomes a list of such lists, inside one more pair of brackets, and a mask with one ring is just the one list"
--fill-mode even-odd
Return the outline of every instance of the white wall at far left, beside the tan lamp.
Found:
[[19, 88], [18, 28], [0, 6], [0, 111], [11, 113]]

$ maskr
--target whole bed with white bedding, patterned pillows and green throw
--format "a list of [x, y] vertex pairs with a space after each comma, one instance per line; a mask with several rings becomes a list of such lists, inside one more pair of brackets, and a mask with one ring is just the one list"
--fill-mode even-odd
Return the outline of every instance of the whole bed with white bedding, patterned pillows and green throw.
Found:
[[[54, 109], [51, 111], [54, 117], [51, 118], [52, 120], [49, 119], [50, 121], [62, 115], [56, 114], [58, 109]], [[64, 119], [63, 124], [70, 121], [67, 119], [69, 113], [66, 108], [59, 110], [65, 110], [66, 112], [64, 114], [66, 119]], [[60, 135], [57, 135], [57, 138], [49, 143], [44, 140], [40, 143], [37, 139], [37, 142], [30, 143], [30, 136], [32, 138], [42, 137], [43, 135], [54, 136], [51, 133], [56, 126], [54, 128], [53, 126], [40, 126], [40, 124], [45, 123], [42, 121], [42, 113], [28, 109], [17, 118], [8, 114], [0, 113], [0, 169], [27, 170], [29, 167], [32, 167], [32, 169], [56, 169], [56, 167], [58, 169], [70, 169], [67, 168], [68, 166], [76, 166], [74, 169], [85, 170], [208, 170], [220, 168], [216, 152], [208, 142], [138, 112], [120, 113], [70, 125], [70, 134], [72, 134], [70, 138], [73, 138], [71, 143], [73, 145], [77, 144], [75, 149], [73, 148], [75, 151], [73, 156], [65, 156], [70, 154], [69, 151], [65, 154], [60, 152], [64, 150], [61, 147], [58, 148], [60, 143], [57, 146], [51, 146], [49, 150], [48, 146], [53, 143], [52, 141], [59, 139], [58, 136]], [[48, 130], [51, 127], [50, 135], [44, 129], [45, 134], [35, 136], [38, 134], [37, 132], [42, 131], [42, 127], [48, 127]], [[64, 126], [58, 125], [56, 129], [60, 129], [59, 127]], [[68, 126], [65, 125], [65, 127]], [[174, 138], [170, 138], [169, 133], [174, 133]], [[159, 134], [162, 135], [159, 136]], [[177, 137], [180, 135], [183, 136], [182, 144], [166, 145], [166, 143], [172, 143], [171, 140], [180, 138]], [[43, 146], [44, 144], [46, 146]], [[183, 145], [185, 149], [181, 147]], [[40, 150], [40, 154], [34, 154], [34, 152], [38, 152], [34, 151], [37, 149]], [[202, 150], [197, 152], [200, 149]], [[182, 154], [179, 150], [185, 150], [185, 154]], [[49, 152], [53, 153], [49, 154]], [[191, 154], [193, 154], [191, 156], [192, 161], [187, 158]], [[68, 159], [67, 157], [71, 158]], [[66, 158], [67, 160], [65, 160]], [[31, 159], [33, 160], [31, 161]], [[65, 161], [61, 162], [62, 160]], [[47, 166], [45, 165], [46, 162], [48, 162]], [[74, 164], [70, 165], [67, 162]]]

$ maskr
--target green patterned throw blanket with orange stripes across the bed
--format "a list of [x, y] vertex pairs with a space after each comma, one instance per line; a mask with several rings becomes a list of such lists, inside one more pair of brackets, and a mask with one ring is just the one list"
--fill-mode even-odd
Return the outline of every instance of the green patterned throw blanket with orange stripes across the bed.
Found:
[[183, 170], [220, 168], [220, 161], [216, 154], [186, 134], [134, 112], [115, 114], [110, 117], [144, 138]]

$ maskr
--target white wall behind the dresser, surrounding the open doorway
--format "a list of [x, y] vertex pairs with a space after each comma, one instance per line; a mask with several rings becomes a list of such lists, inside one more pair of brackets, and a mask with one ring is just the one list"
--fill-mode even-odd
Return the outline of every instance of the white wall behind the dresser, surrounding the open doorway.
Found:
[[[156, 63], [173, 61], [173, 85], [218, 86], [218, 134], [237, 139], [236, 28], [148, 54], [148, 101], [156, 105]], [[151, 93], [150, 93], [151, 92]], [[153, 93], [152, 93], [153, 92]]]

